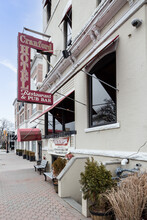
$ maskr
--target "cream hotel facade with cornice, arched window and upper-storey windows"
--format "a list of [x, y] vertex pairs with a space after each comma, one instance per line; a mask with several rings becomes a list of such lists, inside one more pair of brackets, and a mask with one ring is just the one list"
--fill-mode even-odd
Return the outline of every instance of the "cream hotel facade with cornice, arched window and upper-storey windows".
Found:
[[54, 104], [31, 123], [44, 120], [51, 163], [68, 151], [146, 161], [146, 16], [139, 0], [44, 1], [54, 55], [43, 61], [40, 91]]

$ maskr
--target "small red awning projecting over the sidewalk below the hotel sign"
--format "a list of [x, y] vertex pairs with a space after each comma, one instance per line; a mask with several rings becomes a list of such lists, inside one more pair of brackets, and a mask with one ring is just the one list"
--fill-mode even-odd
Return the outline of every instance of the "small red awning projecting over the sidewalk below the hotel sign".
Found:
[[40, 141], [41, 131], [39, 128], [17, 129], [17, 141]]

